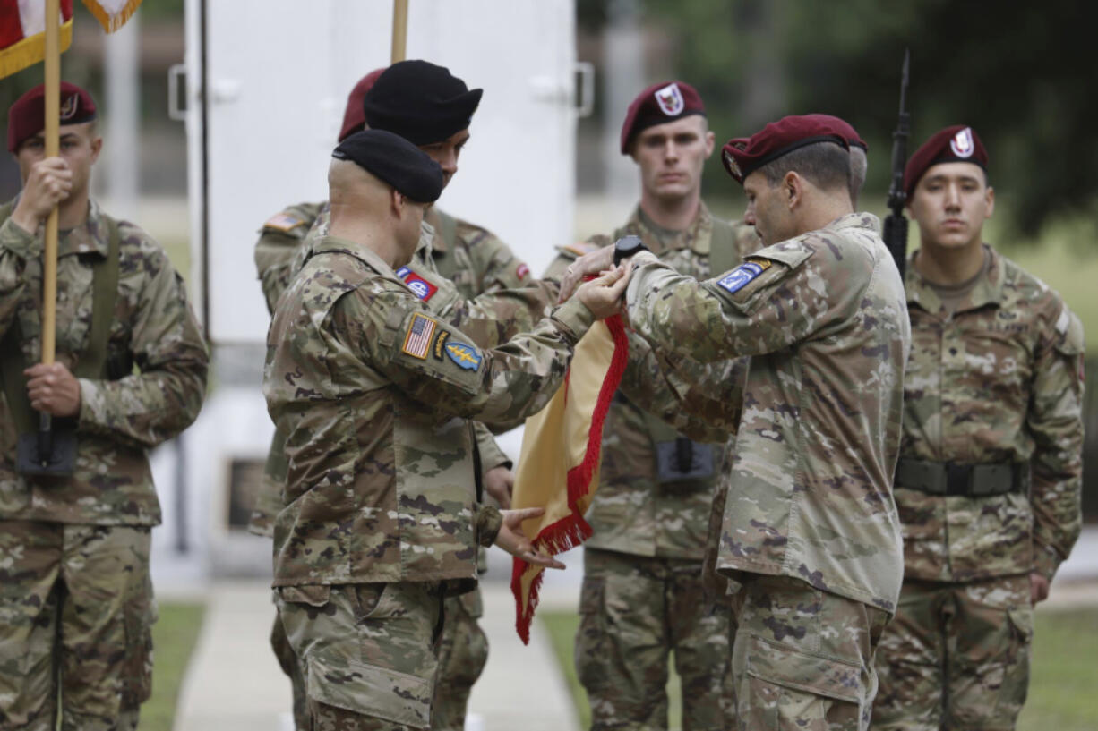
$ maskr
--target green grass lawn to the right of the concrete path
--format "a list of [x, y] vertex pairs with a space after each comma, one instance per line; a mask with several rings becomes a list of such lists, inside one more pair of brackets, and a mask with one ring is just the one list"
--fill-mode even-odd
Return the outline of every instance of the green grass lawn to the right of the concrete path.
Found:
[[[561, 672], [575, 701], [580, 727], [591, 727], [587, 696], [572, 662], [572, 640], [580, 618], [572, 612], [540, 612]], [[1098, 608], [1045, 610], [1037, 615], [1029, 700], [1018, 731], [1094, 731], [1098, 729]], [[680, 729], [679, 681], [668, 684], [670, 729]]]

